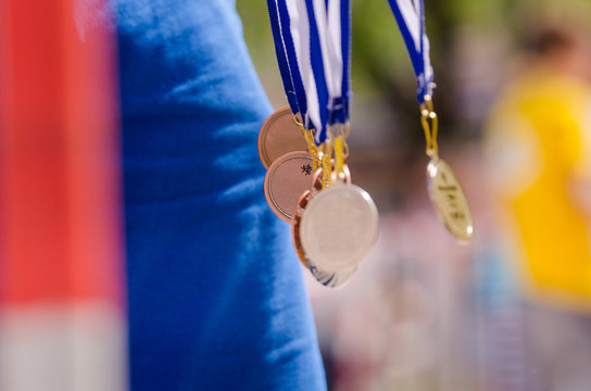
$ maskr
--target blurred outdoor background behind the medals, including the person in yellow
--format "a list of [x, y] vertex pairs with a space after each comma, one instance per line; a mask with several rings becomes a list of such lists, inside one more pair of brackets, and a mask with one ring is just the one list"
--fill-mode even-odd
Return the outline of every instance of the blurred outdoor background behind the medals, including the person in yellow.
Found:
[[[416, 81], [388, 2], [352, 3], [348, 164], [381, 227], [345, 287], [306, 273], [329, 389], [591, 390], [591, 2], [425, 1], [440, 155], [470, 202], [468, 245], [428, 200]], [[237, 7], [285, 106], [266, 7]]]

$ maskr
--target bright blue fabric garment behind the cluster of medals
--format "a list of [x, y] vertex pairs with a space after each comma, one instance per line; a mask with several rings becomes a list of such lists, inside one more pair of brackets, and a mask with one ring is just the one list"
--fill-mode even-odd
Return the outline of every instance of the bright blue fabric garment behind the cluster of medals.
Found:
[[323, 390], [231, 0], [117, 0], [133, 390]]

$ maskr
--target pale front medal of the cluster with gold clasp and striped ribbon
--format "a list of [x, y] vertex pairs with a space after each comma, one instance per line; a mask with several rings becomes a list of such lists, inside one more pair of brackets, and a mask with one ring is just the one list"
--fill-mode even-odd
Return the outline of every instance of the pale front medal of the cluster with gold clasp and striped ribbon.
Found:
[[[325, 286], [338, 287], [351, 279], [372, 249], [378, 213], [369, 194], [350, 184], [344, 164], [350, 133], [350, 3], [328, 0], [312, 5], [309, 14], [315, 15], [317, 28], [311, 29], [311, 41], [317, 40], [320, 50], [311, 53], [311, 66], [324, 78], [316, 79], [317, 102], [309, 102], [309, 113], [320, 152], [323, 190], [309, 198], [299, 222], [299, 238], [312, 276]], [[318, 117], [314, 115], [316, 106], [326, 108]]]

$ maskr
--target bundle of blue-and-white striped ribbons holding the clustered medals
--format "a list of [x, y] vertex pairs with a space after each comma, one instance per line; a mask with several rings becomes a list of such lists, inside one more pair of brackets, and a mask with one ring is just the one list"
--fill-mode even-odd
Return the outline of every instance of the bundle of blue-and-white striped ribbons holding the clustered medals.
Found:
[[316, 129], [320, 144], [328, 126], [349, 121], [350, 0], [267, 0], [267, 5], [290, 106]]

